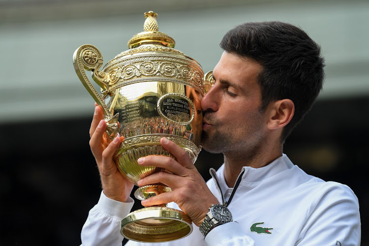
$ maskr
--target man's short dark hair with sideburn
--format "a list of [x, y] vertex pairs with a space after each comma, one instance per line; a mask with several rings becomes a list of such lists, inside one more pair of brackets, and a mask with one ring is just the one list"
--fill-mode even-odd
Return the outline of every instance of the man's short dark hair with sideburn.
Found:
[[272, 101], [288, 98], [294, 102], [294, 117], [281, 135], [284, 142], [322, 89], [324, 58], [319, 45], [300, 28], [274, 21], [239, 25], [224, 35], [220, 47], [263, 66], [258, 79], [261, 111]]

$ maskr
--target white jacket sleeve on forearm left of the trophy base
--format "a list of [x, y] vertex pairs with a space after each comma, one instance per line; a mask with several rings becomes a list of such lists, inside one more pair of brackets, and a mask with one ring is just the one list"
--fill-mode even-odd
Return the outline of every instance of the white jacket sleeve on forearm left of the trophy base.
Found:
[[101, 192], [82, 228], [82, 246], [122, 246], [120, 223], [129, 214], [133, 203], [132, 198], [123, 203], [109, 199]]

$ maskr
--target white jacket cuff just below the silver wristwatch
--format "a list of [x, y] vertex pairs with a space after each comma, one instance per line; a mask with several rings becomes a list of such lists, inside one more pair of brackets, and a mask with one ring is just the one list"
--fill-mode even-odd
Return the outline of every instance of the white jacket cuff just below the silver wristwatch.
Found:
[[216, 226], [206, 235], [205, 243], [207, 246], [254, 246], [254, 241], [237, 222]]

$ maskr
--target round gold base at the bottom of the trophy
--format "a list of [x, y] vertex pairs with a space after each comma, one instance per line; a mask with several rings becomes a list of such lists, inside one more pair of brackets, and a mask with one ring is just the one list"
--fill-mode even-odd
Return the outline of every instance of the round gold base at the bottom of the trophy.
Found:
[[123, 218], [123, 237], [145, 243], [169, 242], [192, 232], [191, 219], [180, 210], [148, 207], [133, 211]]

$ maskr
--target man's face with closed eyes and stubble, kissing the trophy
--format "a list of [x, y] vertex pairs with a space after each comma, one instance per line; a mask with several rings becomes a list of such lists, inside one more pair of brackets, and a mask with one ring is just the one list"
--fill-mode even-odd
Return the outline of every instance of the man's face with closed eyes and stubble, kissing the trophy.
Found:
[[223, 53], [213, 71], [215, 84], [201, 101], [206, 151], [244, 155], [263, 144], [266, 123], [257, 82], [261, 69], [251, 59]]

